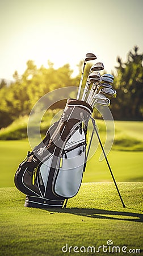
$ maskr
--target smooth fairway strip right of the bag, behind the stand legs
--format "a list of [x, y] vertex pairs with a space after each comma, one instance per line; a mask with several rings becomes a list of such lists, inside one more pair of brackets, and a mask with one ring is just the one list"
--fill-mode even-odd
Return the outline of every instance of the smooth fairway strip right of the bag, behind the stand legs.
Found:
[[[106, 160], [99, 162], [101, 150], [87, 162], [83, 181], [111, 181]], [[107, 156], [112, 172], [117, 181], [143, 181], [143, 152], [113, 151]]]

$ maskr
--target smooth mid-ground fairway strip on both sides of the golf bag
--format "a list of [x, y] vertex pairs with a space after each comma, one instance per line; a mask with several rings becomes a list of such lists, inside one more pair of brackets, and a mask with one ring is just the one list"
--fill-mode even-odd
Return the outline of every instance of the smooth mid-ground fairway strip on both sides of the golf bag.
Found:
[[[0, 187], [13, 187], [14, 175], [19, 163], [30, 150], [28, 141], [0, 141]], [[106, 160], [99, 162], [100, 147], [87, 162], [83, 182], [112, 181]], [[108, 155], [113, 174], [117, 181], [143, 181], [143, 152], [111, 150]]]

